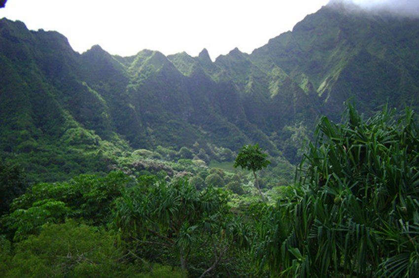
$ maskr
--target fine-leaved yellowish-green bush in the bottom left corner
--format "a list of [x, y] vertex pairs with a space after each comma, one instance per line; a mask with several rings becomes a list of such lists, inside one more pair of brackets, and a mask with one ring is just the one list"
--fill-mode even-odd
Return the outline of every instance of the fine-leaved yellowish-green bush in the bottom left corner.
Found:
[[0, 239], [2, 277], [183, 277], [181, 271], [127, 259], [117, 237], [69, 220], [45, 224], [39, 236], [14, 244]]

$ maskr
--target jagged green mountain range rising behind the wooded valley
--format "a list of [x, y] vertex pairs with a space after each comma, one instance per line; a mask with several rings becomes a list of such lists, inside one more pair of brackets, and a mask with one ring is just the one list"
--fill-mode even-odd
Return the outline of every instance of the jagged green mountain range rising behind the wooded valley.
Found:
[[238, 150], [298, 162], [299, 139], [344, 102], [419, 106], [419, 20], [332, 3], [251, 54], [210, 60], [73, 51], [57, 32], [0, 20], [0, 150], [29, 172], [106, 172], [133, 149]]

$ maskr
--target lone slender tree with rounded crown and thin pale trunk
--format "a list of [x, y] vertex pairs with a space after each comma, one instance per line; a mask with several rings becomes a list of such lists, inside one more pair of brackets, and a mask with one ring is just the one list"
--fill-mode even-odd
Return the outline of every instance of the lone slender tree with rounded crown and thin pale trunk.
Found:
[[266, 168], [269, 164], [271, 164], [271, 162], [266, 159], [267, 156], [268, 155], [266, 153], [262, 152], [262, 148], [259, 147], [259, 144], [244, 145], [234, 162], [235, 168], [240, 166], [242, 169], [251, 170], [253, 172], [254, 186], [259, 191], [262, 200], [265, 202], [266, 199], [263, 196], [262, 191], [260, 191], [256, 171], [262, 170], [263, 168]]

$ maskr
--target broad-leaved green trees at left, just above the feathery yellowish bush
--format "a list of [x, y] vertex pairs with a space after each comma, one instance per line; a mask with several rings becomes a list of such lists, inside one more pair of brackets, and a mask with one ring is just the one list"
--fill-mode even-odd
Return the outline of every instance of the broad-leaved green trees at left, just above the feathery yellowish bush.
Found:
[[62, 223], [66, 217], [105, 224], [110, 220], [113, 200], [129, 181], [128, 176], [114, 172], [105, 177], [79, 175], [68, 182], [36, 184], [13, 200], [1, 224], [15, 240], [38, 233], [45, 223]]

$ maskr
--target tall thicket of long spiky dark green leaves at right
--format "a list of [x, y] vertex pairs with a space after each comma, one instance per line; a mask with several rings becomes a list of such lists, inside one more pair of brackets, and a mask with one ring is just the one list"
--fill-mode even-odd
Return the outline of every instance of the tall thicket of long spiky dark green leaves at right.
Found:
[[[418, 128], [413, 111], [343, 124], [321, 118], [299, 169], [293, 203], [273, 209], [257, 248], [293, 277], [418, 277]], [[262, 225], [263, 226], [263, 225]]]

